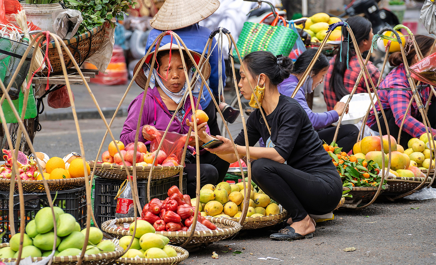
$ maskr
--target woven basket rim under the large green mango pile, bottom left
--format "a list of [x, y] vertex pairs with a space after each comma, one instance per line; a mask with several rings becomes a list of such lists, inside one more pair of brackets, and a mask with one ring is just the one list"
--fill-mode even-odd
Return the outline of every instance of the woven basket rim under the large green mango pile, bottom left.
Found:
[[[0, 244], [0, 248], [8, 247], [9, 243], [2, 243]], [[116, 246], [115, 251], [112, 252], [104, 252], [100, 254], [92, 254], [92, 255], [84, 255], [83, 256], [83, 262], [84, 265], [97, 265], [97, 264], [114, 264], [116, 262], [116, 259], [123, 254], [124, 249], [120, 246]], [[24, 258], [23, 253], [23, 258]], [[34, 257], [33, 262], [41, 261], [46, 257]], [[80, 258], [80, 255], [77, 256], [62, 256], [62, 257], [53, 257], [52, 264], [58, 264], [58, 265], [67, 265], [67, 264], [74, 264], [78, 261]], [[0, 261], [2, 262], [15, 262], [16, 258], [0, 258]]]

